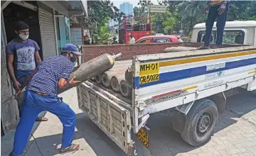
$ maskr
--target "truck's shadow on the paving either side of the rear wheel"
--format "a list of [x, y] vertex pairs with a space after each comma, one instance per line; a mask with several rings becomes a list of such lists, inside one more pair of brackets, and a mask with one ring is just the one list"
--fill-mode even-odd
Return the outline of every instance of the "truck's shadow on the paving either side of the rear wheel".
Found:
[[[237, 123], [233, 118], [241, 118], [247, 113], [256, 110], [256, 96], [250, 92], [244, 91], [228, 98], [226, 110], [218, 118], [218, 124], [215, 133]], [[169, 150], [168, 155], [177, 155], [182, 152], [189, 152], [198, 147], [188, 145], [181, 135], [172, 128], [171, 111], [152, 114], [148, 122], [151, 155], [157, 155]]]

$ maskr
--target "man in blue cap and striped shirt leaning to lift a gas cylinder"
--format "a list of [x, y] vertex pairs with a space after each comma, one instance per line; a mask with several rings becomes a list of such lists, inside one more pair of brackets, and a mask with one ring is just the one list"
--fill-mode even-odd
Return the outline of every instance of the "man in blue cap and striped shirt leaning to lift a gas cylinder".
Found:
[[21, 119], [14, 136], [14, 150], [10, 153], [11, 156], [22, 155], [33, 128], [33, 121], [41, 111], [55, 114], [63, 123], [60, 153], [79, 149], [79, 144], [72, 144], [75, 133], [75, 112], [62, 101], [62, 98], [57, 96], [58, 87], [65, 88], [68, 83], [79, 83], [73, 79], [68, 82], [79, 55], [82, 54], [78, 52], [75, 45], [66, 44], [63, 47], [62, 55], [43, 60], [26, 77], [23, 86], [16, 92], [17, 96], [21, 93], [21, 89], [26, 86], [26, 96], [23, 101]]

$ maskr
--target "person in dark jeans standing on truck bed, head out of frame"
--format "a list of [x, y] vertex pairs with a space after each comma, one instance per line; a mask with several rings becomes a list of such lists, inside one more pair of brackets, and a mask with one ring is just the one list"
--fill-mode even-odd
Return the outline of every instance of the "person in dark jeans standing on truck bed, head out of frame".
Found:
[[223, 33], [225, 28], [225, 22], [227, 18], [228, 9], [230, 6], [230, 1], [208, 1], [207, 6], [203, 9], [203, 13], [208, 12], [208, 17], [206, 21], [206, 38], [204, 40], [204, 45], [199, 47], [198, 50], [205, 50], [210, 48], [210, 36], [213, 30], [213, 24], [216, 18], [218, 18], [217, 26], [217, 40], [215, 48], [222, 45], [223, 43]]

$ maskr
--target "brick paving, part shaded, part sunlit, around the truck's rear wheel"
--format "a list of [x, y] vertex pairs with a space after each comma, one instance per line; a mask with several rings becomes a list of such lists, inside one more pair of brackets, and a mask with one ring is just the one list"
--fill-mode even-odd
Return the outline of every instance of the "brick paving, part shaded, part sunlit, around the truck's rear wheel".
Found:
[[149, 121], [152, 156], [256, 155], [256, 96], [250, 92], [228, 99], [215, 134], [201, 147], [185, 143], [171, 128], [171, 113], [156, 113]]

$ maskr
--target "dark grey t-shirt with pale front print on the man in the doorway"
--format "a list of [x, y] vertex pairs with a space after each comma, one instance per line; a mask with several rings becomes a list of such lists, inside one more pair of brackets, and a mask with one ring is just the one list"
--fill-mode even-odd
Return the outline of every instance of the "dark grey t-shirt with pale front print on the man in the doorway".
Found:
[[6, 45], [6, 54], [14, 55], [14, 72], [18, 82], [23, 83], [25, 77], [36, 69], [35, 52], [38, 50], [38, 44], [31, 39], [26, 43], [14, 39]]

